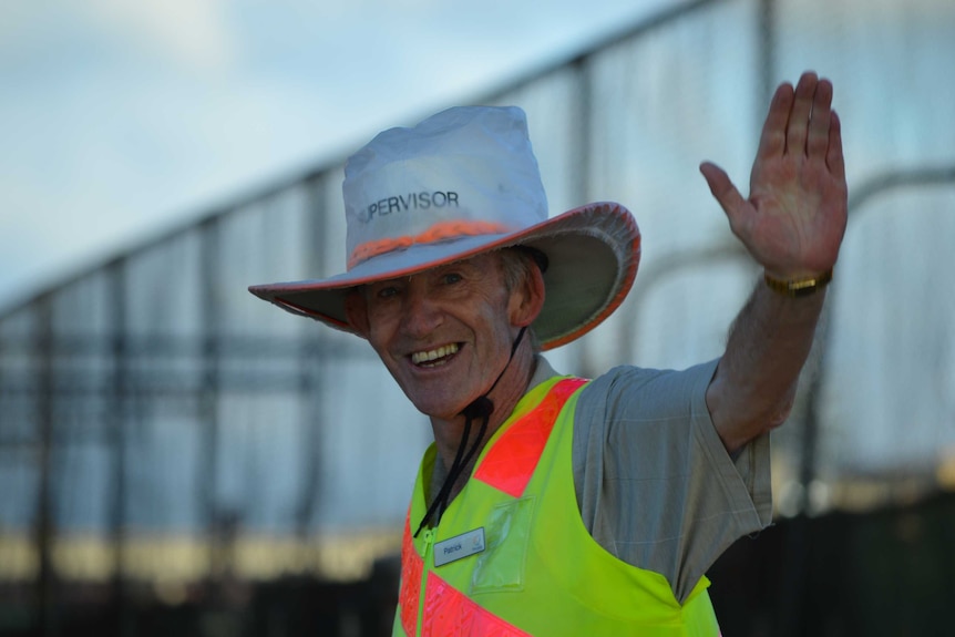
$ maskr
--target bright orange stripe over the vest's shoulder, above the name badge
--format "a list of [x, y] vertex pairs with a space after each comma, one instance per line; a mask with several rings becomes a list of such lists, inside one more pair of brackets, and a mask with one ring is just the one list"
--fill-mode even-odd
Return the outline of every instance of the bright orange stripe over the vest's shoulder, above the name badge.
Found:
[[474, 477], [499, 491], [520, 497], [531, 481], [557, 414], [577, 388], [582, 378], [562, 380], [536, 408], [512, 424], [487, 450]]

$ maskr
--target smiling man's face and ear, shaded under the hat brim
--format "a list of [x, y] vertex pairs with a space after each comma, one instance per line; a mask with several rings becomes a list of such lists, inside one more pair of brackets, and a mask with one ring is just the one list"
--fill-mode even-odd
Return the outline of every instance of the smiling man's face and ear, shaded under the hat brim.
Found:
[[348, 311], [419, 411], [452, 420], [505, 368], [520, 328], [543, 304], [509, 290], [500, 254], [366, 286]]

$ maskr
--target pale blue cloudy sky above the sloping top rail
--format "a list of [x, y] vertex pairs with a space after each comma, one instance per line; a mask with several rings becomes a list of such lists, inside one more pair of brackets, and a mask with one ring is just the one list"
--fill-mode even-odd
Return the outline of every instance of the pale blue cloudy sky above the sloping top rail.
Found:
[[0, 311], [676, 3], [3, 0]]

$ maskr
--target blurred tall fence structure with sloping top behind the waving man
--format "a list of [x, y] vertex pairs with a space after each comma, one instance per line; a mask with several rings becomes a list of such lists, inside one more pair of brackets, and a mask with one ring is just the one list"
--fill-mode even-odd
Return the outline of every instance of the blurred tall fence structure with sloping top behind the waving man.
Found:
[[[727, 635], [951, 630], [953, 61], [948, 0], [701, 0], [458, 100], [527, 111], [552, 214], [636, 215], [629, 299], [552, 357], [595, 374], [720, 353], [759, 273], [697, 165], [745, 185], [776, 84], [833, 80], [850, 226], [777, 524], [711, 573]], [[341, 269], [343, 160], [0, 309], [0, 635], [388, 633], [429, 428], [362, 341], [246, 291]]]

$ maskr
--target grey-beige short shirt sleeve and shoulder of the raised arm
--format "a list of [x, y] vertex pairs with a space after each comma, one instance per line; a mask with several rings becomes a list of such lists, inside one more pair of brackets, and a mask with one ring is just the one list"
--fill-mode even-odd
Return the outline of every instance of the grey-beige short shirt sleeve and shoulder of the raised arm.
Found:
[[717, 362], [615, 368], [582, 391], [575, 412], [585, 526], [617, 558], [664, 575], [681, 603], [730, 544], [772, 520], [769, 434], [733, 460], [707, 410]]

